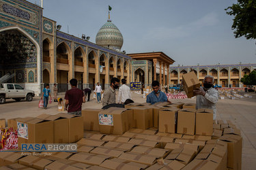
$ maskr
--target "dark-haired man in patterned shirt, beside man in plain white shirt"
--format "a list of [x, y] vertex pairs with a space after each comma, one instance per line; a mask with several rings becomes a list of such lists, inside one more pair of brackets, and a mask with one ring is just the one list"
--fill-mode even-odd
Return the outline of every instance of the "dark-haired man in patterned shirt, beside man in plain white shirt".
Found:
[[102, 106], [115, 103], [115, 90], [119, 87], [120, 80], [118, 78], [111, 78], [110, 87], [104, 91]]

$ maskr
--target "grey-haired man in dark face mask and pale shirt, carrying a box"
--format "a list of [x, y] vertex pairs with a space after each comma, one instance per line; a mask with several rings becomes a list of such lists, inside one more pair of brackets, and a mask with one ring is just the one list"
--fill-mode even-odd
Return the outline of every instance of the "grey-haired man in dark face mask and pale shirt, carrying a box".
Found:
[[216, 103], [218, 102], [218, 91], [213, 87], [214, 77], [206, 75], [203, 80], [203, 87], [194, 90], [197, 95], [196, 109], [212, 109], [214, 112], [213, 119], [216, 119]]

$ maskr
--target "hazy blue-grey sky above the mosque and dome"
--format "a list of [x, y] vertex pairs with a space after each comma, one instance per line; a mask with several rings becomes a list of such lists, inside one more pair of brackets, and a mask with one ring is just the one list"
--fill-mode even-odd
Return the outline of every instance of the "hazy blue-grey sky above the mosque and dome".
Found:
[[[40, 4], [40, 0], [31, 0]], [[231, 0], [44, 0], [43, 16], [61, 31], [81, 37], [96, 35], [108, 18], [124, 37], [126, 54], [164, 52], [177, 65], [256, 63], [255, 40], [235, 38]]]

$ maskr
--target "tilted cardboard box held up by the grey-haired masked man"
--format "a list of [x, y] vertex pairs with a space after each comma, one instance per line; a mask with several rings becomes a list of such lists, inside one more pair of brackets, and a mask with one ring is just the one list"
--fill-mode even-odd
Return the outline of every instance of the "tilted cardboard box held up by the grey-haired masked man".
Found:
[[194, 71], [190, 71], [182, 75], [183, 88], [188, 98], [194, 97], [194, 91], [196, 88], [200, 88], [200, 82]]

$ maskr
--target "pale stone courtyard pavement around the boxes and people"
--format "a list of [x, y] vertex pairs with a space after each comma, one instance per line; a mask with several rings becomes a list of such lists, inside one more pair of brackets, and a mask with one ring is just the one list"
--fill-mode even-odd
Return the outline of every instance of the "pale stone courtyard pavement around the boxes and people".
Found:
[[[63, 96], [61, 96], [63, 97]], [[91, 96], [92, 97], [92, 96]], [[144, 103], [142, 95], [133, 93], [134, 102]], [[27, 116], [38, 116], [40, 114], [57, 114], [57, 103], [48, 105], [48, 109], [39, 109], [40, 98], [35, 97], [33, 101], [16, 102], [12, 99], [0, 105], [0, 118], [17, 118]], [[171, 99], [173, 103], [181, 101], [184, 103], [195, 103], [195, 99]], [[83, 103], [84, 108], [101, 108], [102, 103], [95, 99]], [[241, 130], [243, 137], [242, 169], [255, 169], [256, 167], [256, 95], [252, 99], [224, 99], [217, 104], [217, 119], [231, 120]]]

